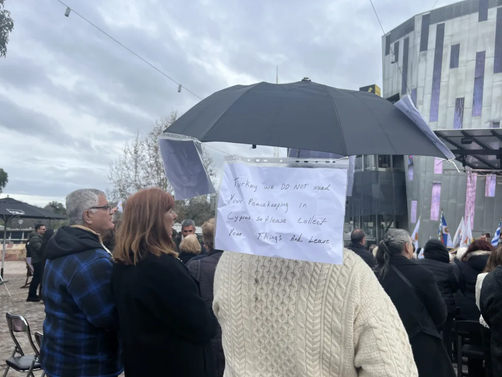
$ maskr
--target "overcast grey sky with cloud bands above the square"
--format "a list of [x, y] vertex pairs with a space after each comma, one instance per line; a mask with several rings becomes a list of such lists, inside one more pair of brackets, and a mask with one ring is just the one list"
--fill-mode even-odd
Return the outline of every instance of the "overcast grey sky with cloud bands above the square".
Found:
[[[383, 33], [369, 0], [64, 3], [202, 98], [275, 82], [276, 65], [280, 82], [382, 83]], [[373, 2], [386, 32], [434, 3]], [[43, 206], [79, 188], [105, 190], [124, 143], [199, 101], [77, 15], [64, 17], [57, 0], [5, 5], [15, 30], [0, 58], [0, 167], [13, 198]], [[247, 155], [249, 146], [226, 151]]]

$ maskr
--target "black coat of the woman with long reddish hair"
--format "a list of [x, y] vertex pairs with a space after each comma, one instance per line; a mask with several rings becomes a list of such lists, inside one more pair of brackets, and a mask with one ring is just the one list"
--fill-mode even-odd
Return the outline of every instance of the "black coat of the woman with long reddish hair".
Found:
[[127, 377], [215, 375], [217, 320], [180, 260], [147, 253], [136, 266], [115, 263], [111, 285]]

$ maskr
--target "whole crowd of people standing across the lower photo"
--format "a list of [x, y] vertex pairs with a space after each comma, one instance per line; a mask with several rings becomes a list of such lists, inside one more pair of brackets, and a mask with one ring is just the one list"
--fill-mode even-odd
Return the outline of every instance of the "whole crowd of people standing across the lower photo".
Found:
[[483, 329], [469, 375], [502, 375], [502, 249], [489, 242], [451, 260], [430, 240], [416, 259], [405, 230], [368, 250], [356, 229], [342, 264], [315, 263], [216, 250], [214, 219], [200, 240], [190, 219], [176, 234], [174, 205], [143, 190], [114, 224], [104, 193], [78, 190], [69, 226], [37, 227], [28, 301], [45, 305], [49, 377], [454, 376], [458, 318]]

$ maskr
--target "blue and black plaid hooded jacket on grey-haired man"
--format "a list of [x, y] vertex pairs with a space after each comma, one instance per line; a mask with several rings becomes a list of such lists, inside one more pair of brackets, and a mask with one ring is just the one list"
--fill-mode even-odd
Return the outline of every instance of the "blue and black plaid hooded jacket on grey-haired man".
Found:
[[115, 377], [122, 370], [113, 261], [98, 234], [63, 227], [46, 249], [40, 362], [51, 377]]

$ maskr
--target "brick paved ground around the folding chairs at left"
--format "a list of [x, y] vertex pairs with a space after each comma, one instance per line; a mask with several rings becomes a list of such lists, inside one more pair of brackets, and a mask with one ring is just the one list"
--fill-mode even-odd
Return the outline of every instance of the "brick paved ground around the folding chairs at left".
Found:
[[[0, 285], [0, 305], [2, 306], [2, 314], [0, 317], [0, 376], [4, 374], [6, 364], [5, 360], [9, 358], [14, 350], [14, 342], [7, 328], [5, 313], [21, 315], [26, 318], [30, 325], [31, 333], [42, 331], [42, 324], [45, 318], [44, 304], [42, 303], [27, 303], [28, 288], [21, 289], [26, 280], [25, 262], [9, 261], [5, 264], [5, 280], [7, 288], [11, 292], [12, 297], [9, 297], [4, 286]], [[23, 351], [26, 354], [33, 354], [28, 338], [21, 334], [19, 342]], [[464, 366], [465, 368], [465, 366]], [[467, 372], [467, 370], [464, 370]], [[13, 369], [9, 370], [7, 377], [24, 376], [25, 373], [18, 373]], [[35, 372], [36, 377], [40, 377], [41, 372]], [[123, 376], [123, 374], [121, 375]]]

